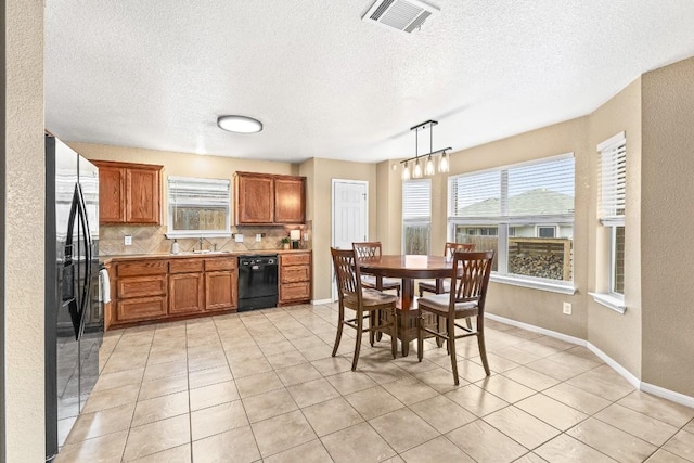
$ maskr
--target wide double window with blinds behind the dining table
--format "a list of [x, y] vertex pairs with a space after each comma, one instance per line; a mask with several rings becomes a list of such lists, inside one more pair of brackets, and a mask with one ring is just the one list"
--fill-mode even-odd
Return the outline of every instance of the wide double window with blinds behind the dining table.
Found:
[[571, 286], [571, 154], [451, 177], [449, 197], [452, 237], [496, 250], [497, 276]]

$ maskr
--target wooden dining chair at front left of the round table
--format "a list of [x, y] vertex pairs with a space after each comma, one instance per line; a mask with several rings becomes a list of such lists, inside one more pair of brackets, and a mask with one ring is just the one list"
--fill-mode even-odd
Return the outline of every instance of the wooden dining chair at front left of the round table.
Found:
[[[398, 298], [393, 294], [386, 294], [377, 290], [362, 286], [359, 266], [357, 265], [357, 252], [355, 249], [330, 248], [335, 267], [337, 298], [339, 303], [339, 318], [337, 320], [337, 334], [332, 356], [335, 357], [339, 347], [339, 340], [345, 325], [357, 330], [355, 356], [351, 370], [357, 370], [361, 335], [364, 331], [371, 334], [370, 342], [373, 346], [373, 333], [386, 333], [390, 335], [390, 350], [396, 358], [398, 348], [397, 323], [395, 308]], [[354, 310], [355, 318], [346, 319], [345, 309]], [[364, 329], [364, 319], [369, 318], [369, 327]]]

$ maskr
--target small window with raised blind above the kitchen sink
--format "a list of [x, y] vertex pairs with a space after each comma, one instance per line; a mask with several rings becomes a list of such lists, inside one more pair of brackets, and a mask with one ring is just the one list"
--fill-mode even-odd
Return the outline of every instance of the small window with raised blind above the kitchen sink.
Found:
[[168, 178], [169, 237], [231, 234], [229, 180]]

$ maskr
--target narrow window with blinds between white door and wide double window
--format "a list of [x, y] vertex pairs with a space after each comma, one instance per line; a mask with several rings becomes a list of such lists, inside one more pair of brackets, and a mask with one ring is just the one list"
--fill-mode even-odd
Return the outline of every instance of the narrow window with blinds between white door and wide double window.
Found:
[[402, 252], [428, 254], [432, 234], [432, 180], [402, 182]]

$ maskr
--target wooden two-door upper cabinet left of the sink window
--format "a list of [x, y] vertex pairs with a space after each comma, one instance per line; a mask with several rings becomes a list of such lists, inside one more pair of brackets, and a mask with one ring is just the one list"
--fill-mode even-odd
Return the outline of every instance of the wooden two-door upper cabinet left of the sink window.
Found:
[[92, 160], [99, 167], [99, 223], [162, 223], [162, 169]]

